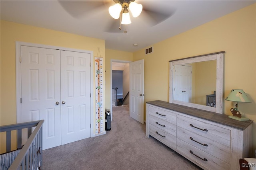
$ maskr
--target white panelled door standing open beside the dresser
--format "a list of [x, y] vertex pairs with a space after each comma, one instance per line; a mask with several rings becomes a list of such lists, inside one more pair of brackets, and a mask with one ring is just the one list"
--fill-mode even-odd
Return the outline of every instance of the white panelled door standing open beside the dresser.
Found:
[[144, 124], [144, 60], [130, 63], [130, 117]]

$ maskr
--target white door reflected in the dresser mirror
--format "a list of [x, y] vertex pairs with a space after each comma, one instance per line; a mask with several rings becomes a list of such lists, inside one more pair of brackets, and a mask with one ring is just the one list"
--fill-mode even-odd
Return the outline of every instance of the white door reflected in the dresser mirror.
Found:
[[174, 100], [192, 102], [192, 66], [174, 66]]

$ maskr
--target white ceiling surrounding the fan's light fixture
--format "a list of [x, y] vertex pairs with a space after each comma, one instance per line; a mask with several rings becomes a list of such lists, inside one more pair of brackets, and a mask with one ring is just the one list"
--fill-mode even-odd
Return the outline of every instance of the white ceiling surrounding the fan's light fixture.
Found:
[[[105, 40], [106, 49], [134, 52], [202, 25], [246, 6], [255, 0], [136, 0], [144, 9], [170, 17], [158, 23], [146, 18], [146, 10], [132, 23], [122, 25], [108, 14], [114, 2], [58, 0], [1, 0], [1, 20], [44, 27]], [[115, 22], [114, 27], [110, 27]], [[123, 31], [127, 31], [124, 33]], [[138, 46], [134, 47], [133, 44]]]

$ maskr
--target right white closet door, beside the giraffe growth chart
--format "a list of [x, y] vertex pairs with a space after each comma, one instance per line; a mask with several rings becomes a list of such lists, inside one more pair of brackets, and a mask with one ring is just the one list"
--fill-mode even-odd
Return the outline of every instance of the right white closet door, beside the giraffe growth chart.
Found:
[[62, 145], [90, 137], [90, 54], [61, 51]]

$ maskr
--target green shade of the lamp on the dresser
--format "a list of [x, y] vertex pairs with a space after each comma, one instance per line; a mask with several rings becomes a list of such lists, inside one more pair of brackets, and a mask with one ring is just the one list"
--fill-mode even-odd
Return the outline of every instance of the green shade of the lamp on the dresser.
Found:
[[251, 102], [244, 90], [231, 90], [228, 97], [225, 100], [232, 102]]

